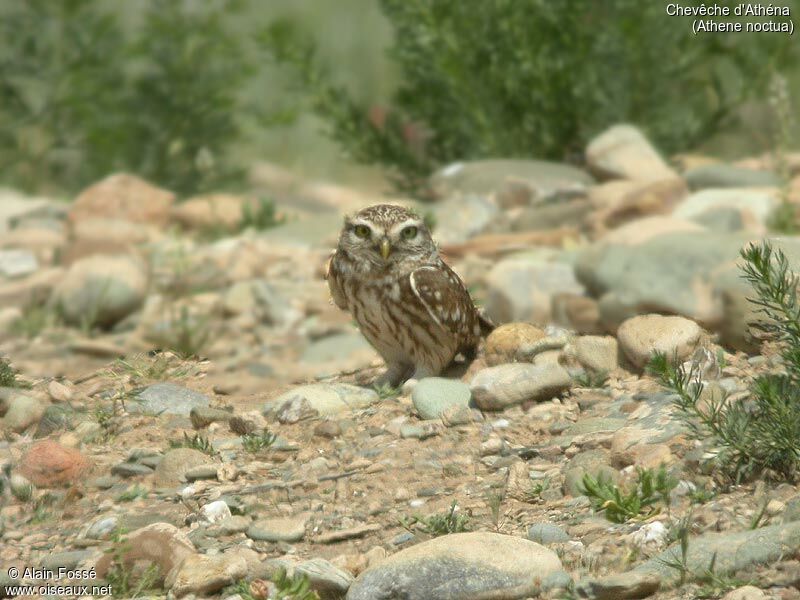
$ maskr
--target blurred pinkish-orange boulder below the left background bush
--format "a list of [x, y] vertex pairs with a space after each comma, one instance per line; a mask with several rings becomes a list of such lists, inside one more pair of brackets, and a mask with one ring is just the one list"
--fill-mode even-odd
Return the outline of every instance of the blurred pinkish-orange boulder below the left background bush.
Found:
[[172, 192], [135, 175], [118, 173], [83, 190], [70, 206], [68, 218], [73, 224], [90, 218], [111, 218], [163, 227], [174, 201]]

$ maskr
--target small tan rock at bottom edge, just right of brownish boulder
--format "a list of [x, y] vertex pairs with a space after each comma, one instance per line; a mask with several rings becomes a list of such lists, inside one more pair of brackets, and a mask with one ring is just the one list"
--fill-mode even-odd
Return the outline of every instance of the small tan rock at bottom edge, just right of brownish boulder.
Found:
[[176, 598], [187, 594], [209, 596], [247, 575], [247, 562], [237, 555], [205, 556], [189, 554], [180, 566], [170, 571], [165, 587]]

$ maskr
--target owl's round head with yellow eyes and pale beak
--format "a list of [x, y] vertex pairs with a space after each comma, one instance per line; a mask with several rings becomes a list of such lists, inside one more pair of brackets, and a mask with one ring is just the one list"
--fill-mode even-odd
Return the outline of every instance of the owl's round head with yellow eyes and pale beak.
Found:
[[427, 259], [437, 252], [422, 217], [394, 204], [376, 204], [346, 217], [339, 249], [375, 265]]

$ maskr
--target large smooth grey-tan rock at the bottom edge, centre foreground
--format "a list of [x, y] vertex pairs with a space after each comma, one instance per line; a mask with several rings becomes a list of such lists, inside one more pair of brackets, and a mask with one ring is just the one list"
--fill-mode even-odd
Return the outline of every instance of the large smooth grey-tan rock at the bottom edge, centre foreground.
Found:
[[[535, 542], [497, 533], [456, 533], [419, 543], [370, 567], [347, 600], [526, 598], [561, 570], [556, 554]], [[502, 595], [502, 596], [501, 596]]]

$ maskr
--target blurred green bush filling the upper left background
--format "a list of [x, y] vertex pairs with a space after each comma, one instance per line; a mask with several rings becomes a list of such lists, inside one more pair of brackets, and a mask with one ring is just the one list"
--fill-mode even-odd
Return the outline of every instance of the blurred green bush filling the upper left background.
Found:
[[232, 181], [255, 67], [243, 2], [150, 0], [122, 26], [102, 0], [0, 7], [0, 172], [27, 189], [129, 170], [181, 193]]

